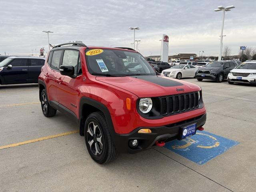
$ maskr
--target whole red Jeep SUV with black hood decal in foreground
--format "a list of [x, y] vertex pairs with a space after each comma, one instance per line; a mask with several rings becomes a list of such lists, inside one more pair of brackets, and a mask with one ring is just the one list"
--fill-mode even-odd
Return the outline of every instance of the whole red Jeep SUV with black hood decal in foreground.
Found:
[[44, 116], [73, 117], [101, 164], [184, 139], [206, 122], [199, 86], [160, 76], [131, 48], [54, 46], [38, 83]]

